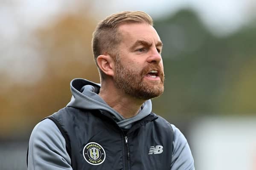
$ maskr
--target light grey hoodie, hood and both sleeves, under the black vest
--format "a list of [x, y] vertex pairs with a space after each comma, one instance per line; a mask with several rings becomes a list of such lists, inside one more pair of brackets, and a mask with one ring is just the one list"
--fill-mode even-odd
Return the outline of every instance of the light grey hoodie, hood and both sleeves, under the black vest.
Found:
[[[70, 88], [73, 96], [67, 107], [108, 111], [124, 130], [128, 130], [134, 122], [151, 113], [151, 100], [147, 100], [136, 116], [125, 119], [98, 95], [99, 84], [85, 79], [73, 79]], [[194, 170], [194, 160], [185, 137], [177, 127], [172, 125], [172, 128], [174, 149], [171, 170]], [[55, 123], [50, 119], [44, 119], [35, 126], [30, 136], [28, 170], [72, 170], [65, 146], [65, 139]]]

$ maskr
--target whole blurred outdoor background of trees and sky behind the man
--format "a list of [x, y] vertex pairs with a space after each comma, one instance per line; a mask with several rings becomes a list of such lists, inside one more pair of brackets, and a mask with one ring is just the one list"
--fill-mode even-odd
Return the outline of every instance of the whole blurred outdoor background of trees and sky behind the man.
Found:
[[255, 0], [0, 0], [0, 170], [25, 170], [33, 127], [99, 82], [92, 32], [143, 10], [160, 35], [165, 92], [153, 111], [186, 136], [196, 170], [256, 170]]

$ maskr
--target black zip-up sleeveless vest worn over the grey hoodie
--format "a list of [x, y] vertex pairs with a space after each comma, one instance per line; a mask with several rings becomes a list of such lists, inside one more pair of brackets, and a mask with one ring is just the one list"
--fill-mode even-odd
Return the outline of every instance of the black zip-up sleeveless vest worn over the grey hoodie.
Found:
[[[173, 150], [171, 125], [154, 113], [122, 131], [108, 112], [66, 107], [49, 116], [66, 140], [73, 170], [170, 170]], [[128, 137], [127, 143], [125, 136]], [[90, 142], [105, 150], [102, 164], [89, 164], [84, 146]], [[67, 146], [67, 144], [69, 146]], [[152, 147], [163, 147], [148, 154]], [[159, 154], [158, 154], [159, 153]]]

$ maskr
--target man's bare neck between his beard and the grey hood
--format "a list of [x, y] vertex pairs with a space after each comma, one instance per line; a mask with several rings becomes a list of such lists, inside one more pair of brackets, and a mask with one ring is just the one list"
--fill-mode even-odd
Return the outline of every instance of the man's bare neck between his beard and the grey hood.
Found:
[[137, 115], [145, 99], [137, 99], [115, 88], [111, 82], [102, 82], [99, 96], [125, 119]]

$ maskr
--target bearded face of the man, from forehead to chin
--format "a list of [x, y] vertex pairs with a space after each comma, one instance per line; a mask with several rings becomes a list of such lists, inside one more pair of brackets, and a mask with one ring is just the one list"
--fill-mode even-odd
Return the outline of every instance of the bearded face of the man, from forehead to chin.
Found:
[[156, 30], [146, 23], [127, 23], [116, 57], [114, 82], [126, 94], [151, 99], [163, 93], [162, 42]]

